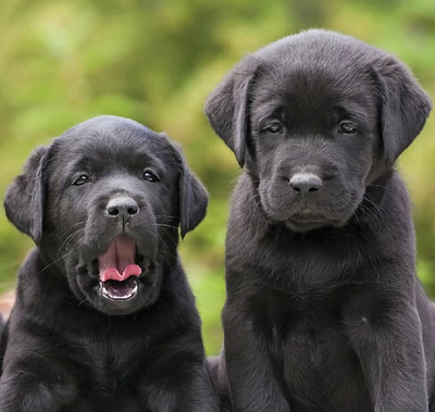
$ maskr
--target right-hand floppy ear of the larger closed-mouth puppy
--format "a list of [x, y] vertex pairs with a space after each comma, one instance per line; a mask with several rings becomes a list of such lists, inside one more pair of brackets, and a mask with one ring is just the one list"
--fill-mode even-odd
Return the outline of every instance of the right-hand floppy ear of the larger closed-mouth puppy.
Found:
[[381, 127], [388, 164], [420, 134], [432, 110], [430, 97], [411, 71], [388, 57], [376, 71], [382, 96]]

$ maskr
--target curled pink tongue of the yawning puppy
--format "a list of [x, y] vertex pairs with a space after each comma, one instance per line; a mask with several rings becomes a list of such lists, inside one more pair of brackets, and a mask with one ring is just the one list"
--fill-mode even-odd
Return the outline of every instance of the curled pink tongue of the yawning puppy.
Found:
[[101, 282], [122, 282], [142, 273], [140, 266], [135, 264], [135, 240], [127, 236], [114, 239], [109, 250], [98, 258], [98, 263]]

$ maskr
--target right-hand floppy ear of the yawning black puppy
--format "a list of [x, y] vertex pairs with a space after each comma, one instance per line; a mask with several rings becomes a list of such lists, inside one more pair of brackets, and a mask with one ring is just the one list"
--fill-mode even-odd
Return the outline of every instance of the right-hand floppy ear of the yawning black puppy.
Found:
[[179, 226], [182, 238], [197, 227], [206, 216], [209, 196], [206, 187], [195, 176], [183, 155], [182, 148], [173, 143], [176, 162], [179, 170]]

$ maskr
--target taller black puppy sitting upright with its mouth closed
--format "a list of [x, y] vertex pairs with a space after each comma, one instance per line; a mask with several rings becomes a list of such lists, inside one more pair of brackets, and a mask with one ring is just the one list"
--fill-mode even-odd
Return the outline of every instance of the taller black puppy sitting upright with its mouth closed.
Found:
[[211, 93], [245, 165], [223, 311], [236, 412], [435, 411], [434, 308], [394, 170], [430, 111], [397, 59], [326, 30], [248, 55]]

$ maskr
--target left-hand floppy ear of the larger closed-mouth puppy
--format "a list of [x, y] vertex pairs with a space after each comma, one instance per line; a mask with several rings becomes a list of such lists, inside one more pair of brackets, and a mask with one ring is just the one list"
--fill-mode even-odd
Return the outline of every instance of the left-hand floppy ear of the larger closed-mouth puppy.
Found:
[[250, 133], [249, 92], [257, 67], [253, 59], [237, 65], [210, 93], [204, 107], [211, 127], [236, 154], [240, 167]]

